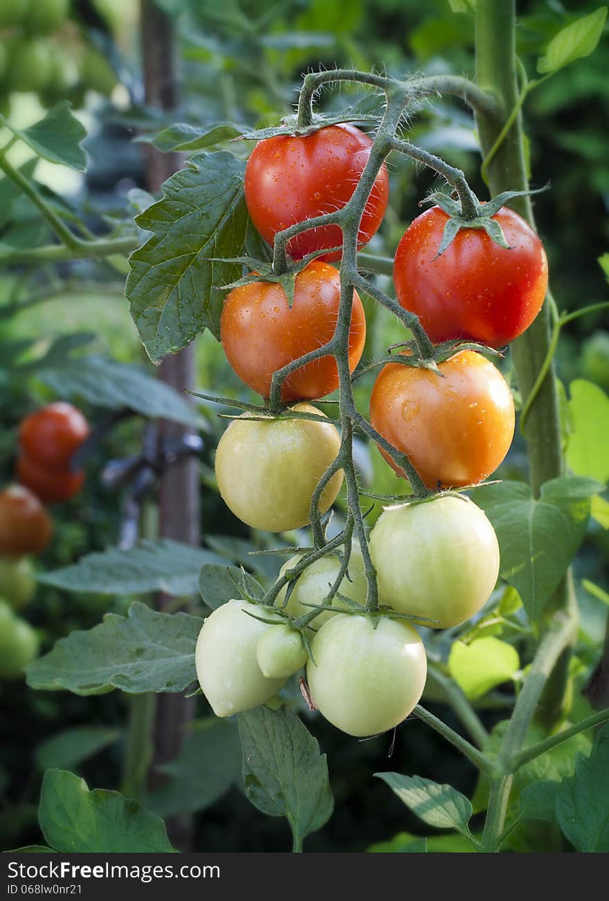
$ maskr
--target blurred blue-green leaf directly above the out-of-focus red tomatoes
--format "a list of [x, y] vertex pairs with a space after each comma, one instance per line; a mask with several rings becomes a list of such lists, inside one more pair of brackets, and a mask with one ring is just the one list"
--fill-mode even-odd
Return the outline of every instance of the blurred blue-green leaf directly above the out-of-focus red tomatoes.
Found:
[[110, 410], [128, 407], [150, 419], [168, 419], [198, 429], [204, 425], [183, 393], [136, 366], [86, 356], [43, 366], [37, 375], [60, 397], [83, 398]]

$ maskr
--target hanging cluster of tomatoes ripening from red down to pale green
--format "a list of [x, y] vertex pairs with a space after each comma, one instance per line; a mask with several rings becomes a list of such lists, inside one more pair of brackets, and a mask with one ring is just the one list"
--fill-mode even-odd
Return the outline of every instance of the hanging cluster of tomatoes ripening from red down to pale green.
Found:
[[[370, 146], [350, 125], [260, 141], [247, 164], [245, 194], [262, 237], [271, 243], [286, 227], [348, 204]], [[386, 201], [383, 167], [361, 219], [359, 244], [377, 231]], [[547, 287], [541, 241], [505, 207], [493, 218], [509, 249], [476, 223], [461, 226], [439, 252], [448, 220], [440, 207], [419, 216], [399, 242], [395, 290], [432, 343], [467, 340], [499, 348], [520, 335], [541, 308]], [[277, 278], [252, 279], [226, 297], [223, 349], [245, 384], [265, 398], [278, 369], [338, 340], [341, 279], [327, 260], [340, 259], [341, 242], [335, 224], [290, 238], [286, 250], [294, 260], [322, 251], [297, 271], [291, 302]], [[365, 338], [356, 294], [349, 334], [341, 335], [351, 371]], [[435, 368], [418, 365], [410, 350], [404, 353], [381, 369], [370, 396], [371, 425], [386, 442], [381, 453], [402, 477], [387, 446], [407, 455], [428, 489], [480, 482], [504, 460], [514, 435], [514, 403], [503, 376], [482, 354], [459, 346], [452, 356], [441, 348]], [[216, 477], [242, 522], [286, 532], [309, 522], [313, 503], [320, 513], [330, 508], [343, 478], [337, 459], [341, 436], [306, 402], [338, 384], [331, 353], [309, 359], [283, 382], [282, 401], [295, 402], [289, 416], [245, 413], [224, 432]], [[274, 607], [233, 599], [207, 617], [196, 668], [217, 715], [266, 703], [305, 666], [314, 705], [344, 732], [382, 733], [404, 720], [423, 693], [427, 671], [423, 642], [405, 618], [446, 629], [477, 614], [495, 588], [499, 547], [482, 510], [467, 497], [441, 490], [386, 508], [370, 532], [368, 550], [380, 598], [374, 613], [364, 609], [368, 576], [362, 548], [353, 540], [347, 563], [344, 548], [337, 549], [293, 578], [304, 552], [287, 560], [279, 574], [286, 584]], [[328, 606], [337, 583], [332, 609], [307, 616], [316, 606]]]

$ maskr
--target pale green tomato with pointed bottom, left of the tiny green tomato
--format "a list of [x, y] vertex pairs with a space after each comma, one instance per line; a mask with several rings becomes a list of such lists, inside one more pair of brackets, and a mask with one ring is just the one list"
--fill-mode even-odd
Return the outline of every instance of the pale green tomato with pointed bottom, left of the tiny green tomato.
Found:
[[258, 707], [286, 681], [262, 674], [256, 651], [272, 626], [248, 614], [268, 615], [249, 601], [227, 601], [205, 619], [196, 642], [196, 675], [216, 716]]

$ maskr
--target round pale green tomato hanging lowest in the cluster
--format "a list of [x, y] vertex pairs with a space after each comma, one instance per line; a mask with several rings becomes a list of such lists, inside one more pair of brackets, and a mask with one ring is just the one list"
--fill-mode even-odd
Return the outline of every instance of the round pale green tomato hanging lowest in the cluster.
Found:
[[311, 653], [306, 678], [314, 704], [349, 735], [393, 729], [423, 694], [425, 649], [404, 620], [332, 616], [315, 635]]

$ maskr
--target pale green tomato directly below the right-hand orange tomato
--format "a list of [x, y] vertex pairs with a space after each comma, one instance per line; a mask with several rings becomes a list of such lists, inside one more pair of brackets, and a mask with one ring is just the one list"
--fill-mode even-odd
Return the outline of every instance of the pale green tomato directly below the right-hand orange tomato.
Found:
[[476, 614], [499, 575], [495, 530], [466, 497], [388, 507], [370, 533], [370, 556], [385, 603], [435, 629]]

